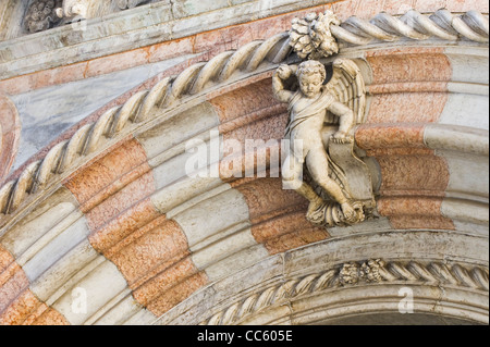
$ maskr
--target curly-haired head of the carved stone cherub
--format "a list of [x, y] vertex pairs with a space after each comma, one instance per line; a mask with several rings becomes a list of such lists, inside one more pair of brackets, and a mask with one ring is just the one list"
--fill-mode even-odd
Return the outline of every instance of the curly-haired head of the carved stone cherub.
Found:
[[307, 60], [297, 66], [296, 76], [299, 89], [307, 98], [315, 98], [321, 92], [327, 72], [322, 63]]

